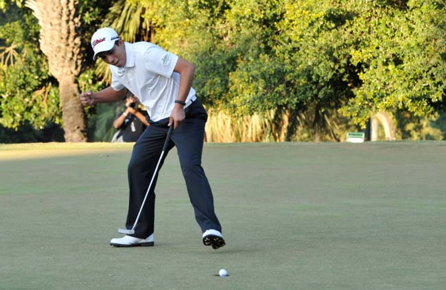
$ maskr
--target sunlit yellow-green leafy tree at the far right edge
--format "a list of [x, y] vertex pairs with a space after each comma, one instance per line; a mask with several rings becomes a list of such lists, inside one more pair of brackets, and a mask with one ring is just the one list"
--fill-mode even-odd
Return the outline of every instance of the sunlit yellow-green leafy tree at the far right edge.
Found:
[[444, 3], [365, 2], [349, 1], [351, 62], [361, 82], [343, 112], [360, 124], [377, 111], [432, 115], [443, 107], [446, 89]]

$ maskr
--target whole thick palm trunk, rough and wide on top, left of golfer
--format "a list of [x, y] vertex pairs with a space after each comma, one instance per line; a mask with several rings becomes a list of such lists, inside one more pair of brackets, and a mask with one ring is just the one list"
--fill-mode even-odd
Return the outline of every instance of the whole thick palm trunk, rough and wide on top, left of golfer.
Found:
[[59, 82], [66, 142], [86, 142], [86, 118], [79, 102], [77, 77], [81, 69], [80, 16], [77, 0], [27, 0], [40, 25], [40, 49], [49, 73]]

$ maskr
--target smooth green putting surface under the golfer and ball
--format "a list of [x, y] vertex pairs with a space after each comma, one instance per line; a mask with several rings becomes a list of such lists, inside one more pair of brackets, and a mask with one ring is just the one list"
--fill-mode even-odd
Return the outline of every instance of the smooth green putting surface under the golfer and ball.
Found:
[[446, 142], [205, 144], [218, 250], [202, 245], [175, 149], [155, 246], [108, 245], [131, 150], [0, 145], [1, 290], [446, 287]]

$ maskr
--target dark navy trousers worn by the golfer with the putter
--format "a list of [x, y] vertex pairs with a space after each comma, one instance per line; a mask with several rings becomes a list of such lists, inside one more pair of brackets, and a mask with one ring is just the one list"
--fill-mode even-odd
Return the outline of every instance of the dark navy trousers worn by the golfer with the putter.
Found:
[[[186, 118], [172, 132], [167, 152], [176, 146], [180, 166], [186, 181], [189, 199], [195, 212], [195, 218], [202, 232], [213, 229], [222, 232], [220, 222], [215, 215], [213, 206], [213, 195], [209, 181], [201, 166], [201, 156], [204, 142], [204, 124], [207, 121], [206, 110], [198, 100], [185, 109]], [[149, 187], [150, 180], [154, 174], [156, 164], [161, 156], [165, 138], [167, 137], [167, 126], [169, 119], [159, 122], [150, 122], [141, 137], [133, 146], [132, 157], [128, 164], [128, 184], [130, 197], [128, 203], [127, 229], [133, 227], [137, 218], [145, 192]], [[172, 124], [173, 126], [173, 124]], [[137, 238], [147, 238], [154, 232], [154, 210], [155, 210], [155, 186], [156, 175], [148, 198], [145, 201], [141, 216], [134, 234]]]

